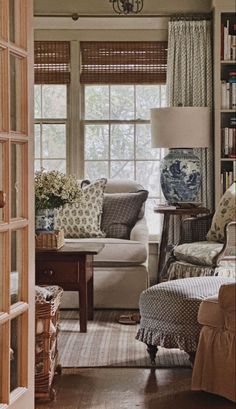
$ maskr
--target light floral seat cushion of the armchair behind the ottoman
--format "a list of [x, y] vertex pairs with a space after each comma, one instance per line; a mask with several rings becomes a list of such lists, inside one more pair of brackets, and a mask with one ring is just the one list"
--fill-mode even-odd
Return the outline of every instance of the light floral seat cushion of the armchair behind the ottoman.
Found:
[[174, 255], [177, 260], [183, 260], [187, 263], [201, 266], [212, 266], [222, 248], [223, 244], [215, 241], [184, 243], [175, 247]]

